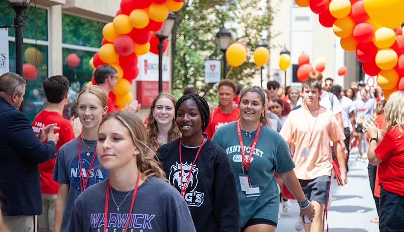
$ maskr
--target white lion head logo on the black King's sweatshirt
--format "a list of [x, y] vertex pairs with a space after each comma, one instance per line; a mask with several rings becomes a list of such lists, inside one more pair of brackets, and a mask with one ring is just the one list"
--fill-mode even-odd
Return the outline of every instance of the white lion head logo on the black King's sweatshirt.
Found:
[[196, 164], [193, 166], [192, 173], [191, 164], [185, 163], [182, 164], [182, 175], [181, 175], [181, 164], [176, 163], [176, 165], [172, 165], [170, 168], [170, 184], [174, 187], [178, 187], [181, 190], [181, 186], [185, 186], [186, 180], [189, 177], [189, 182], [187, 186], [187, 192], [190, 192], [196, 188], [198, 185], [198, 172], [199, 169], [196, 167]]

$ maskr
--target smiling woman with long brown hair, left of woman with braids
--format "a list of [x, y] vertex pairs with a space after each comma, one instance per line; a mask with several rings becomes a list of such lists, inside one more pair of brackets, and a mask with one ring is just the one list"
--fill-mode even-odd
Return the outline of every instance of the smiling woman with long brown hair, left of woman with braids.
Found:
[[170, 93], [159, 93], [151, 103], [147, 121], [147, 141], [151, 149], [157, 150], [161, 145], [181, 137], [174, 119], [177, 99]]

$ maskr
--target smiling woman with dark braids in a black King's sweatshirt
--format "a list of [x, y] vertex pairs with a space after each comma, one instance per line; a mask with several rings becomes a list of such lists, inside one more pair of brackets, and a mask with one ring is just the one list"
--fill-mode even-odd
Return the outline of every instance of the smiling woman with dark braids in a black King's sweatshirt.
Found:
[[209, 106], [196, 94], [181, 97], [175, 118], [182, 138], [162, 145], [157, 158], [166, 176], [185, 198], [196, 231], [240, 231], [234, 172], [226, 152], [203, 137]]

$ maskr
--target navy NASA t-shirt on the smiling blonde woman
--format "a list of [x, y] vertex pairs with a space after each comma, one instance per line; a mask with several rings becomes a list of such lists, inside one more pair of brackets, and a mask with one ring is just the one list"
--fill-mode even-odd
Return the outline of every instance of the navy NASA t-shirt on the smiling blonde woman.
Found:
[[[70, 214], [72, 212], [73, 203], [76, 198], [81, 194], [81, 185], [80, 185], [80, 164], [79, 164], [79, 156], [78, 156], [78, 147], [79, 147], [79, 136], [73, 139], [72, 141], [64, 144], [60, 149], [56, 156], [54, 174], [52, 180], [55, 180], [61, 184], [67, 184], [70, 186], [69, 194], [66, 202], [66, 210], [65, 216], [63, 217], [63, 225], [62, 231], [69, 230], [69, 221]], [[96, 141], [85, 140], [84, 142], [92, 148], [90, 151], [90, 155], [87, 156], [87, 150], [85, 149], [85, 145], [82, 141], [80, 148], [80, 162], [81, 168], [83, 172], [84, 178], [87, 177], [88, 168], [90, 167], [90, 163], [92, 157], [94, 155], [94, 150], [96, 148]], [[108, 170], [104, 169], [101, 164], [99, 164], [98, 157], [95, 157], [94, 163], [92, 165], [91, 171], [89, 173], [87, 188], [91, 185], [94, 185], [98, 182], [101, 182], [109, 177]]]

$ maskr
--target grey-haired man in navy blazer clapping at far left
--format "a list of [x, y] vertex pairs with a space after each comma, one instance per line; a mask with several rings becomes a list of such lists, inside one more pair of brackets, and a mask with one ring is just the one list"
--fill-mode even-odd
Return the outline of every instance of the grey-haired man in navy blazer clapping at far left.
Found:
[[32, 232], [33, 216], [42, 214], [38, 164], [55, 157], [59, 139], [55, 124], [42, 128], [37, 137], [18, 111], [25, 85], [18, 74], [0, 76], [0, 207], [12, 232]]

